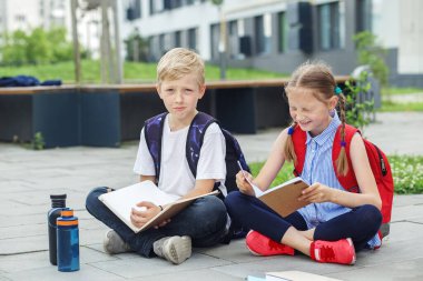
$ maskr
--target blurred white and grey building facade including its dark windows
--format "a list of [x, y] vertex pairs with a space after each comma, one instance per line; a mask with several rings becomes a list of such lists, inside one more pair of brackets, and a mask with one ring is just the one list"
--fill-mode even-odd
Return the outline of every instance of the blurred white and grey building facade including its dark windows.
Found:
[[357, 67], [352, 37], [368, 30], [388, 51], [390, 83], [423, 87], [419, 0], [224, 0], [220, 6], [210, 0], [126, 0], [122, 4], [122, 38], [139, 32], [148, 39], [150, 61], [174, 47], [187, 47], [209, 63], [219, 63], [223, 56], [230, 67], [291, 73], [306, 60], [321, 59], [336, 74], [350, 74]]

